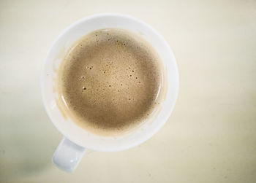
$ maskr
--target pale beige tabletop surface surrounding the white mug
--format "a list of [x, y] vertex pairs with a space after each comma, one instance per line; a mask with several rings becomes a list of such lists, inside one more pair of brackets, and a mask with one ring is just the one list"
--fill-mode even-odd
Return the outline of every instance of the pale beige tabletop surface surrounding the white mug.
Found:
[[[74, 174], [39, 75], [64, 28], [98, 12], [133, 15], [169, 42], [180, 71], [173, 114], [124, 152], [91, 152]], [[0, 1], [0, 182], [256, 182], [256, 1]]]

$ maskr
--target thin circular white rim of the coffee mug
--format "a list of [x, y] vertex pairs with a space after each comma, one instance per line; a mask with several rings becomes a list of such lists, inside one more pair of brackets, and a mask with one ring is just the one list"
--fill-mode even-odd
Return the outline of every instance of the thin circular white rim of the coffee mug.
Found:
[[[162, 42], [163, 44], [165, 44], [165, 47], [167, 48], [168, 52], [170, 53], [171, 57], [173, 58], [173, 64], [174, 64], [174, 69], [176, 70], [176, 96], [174, 98], [174, 101], [173, 101], [173, 105], [171, 106], [171, 109], [169, 109], [169, 112], [168, 114], [166, 115], [167, 118], [170, 117], [170, 114], [173, 112], [173, 108], [176, 104], [176, 101], [177, 101], [177, 98], [178, 98], [178, 87], [179, 87], [179, 77], [178, 77], [178, 66], [177, 66], [177, 63], [176, 63], [176, 58], [174, 57], [173, 55], [173, 52], [172, 50], [170, 49], [170, 46], [169, 44], [167, 44], [167, 42], [165, 41], [165, 39], [162, 37], [161, 34], [159, 34], [153, 27], [151, 27], [150, 25], [148, 25], [147, 23], [143, 22], [143, 20], [140, 20], [136, 17], [132, 17], [131, 15], [124, 15], [124, 14], [119, 14], [119, 13], [99, 13], [99, 14], [94, 14], [94, 15], [89, 15], [89, 16], [86, 16], [86, 17], [83, 17], [81, 18], [80, 20], [77, 20], [75, 23], [72, 23], [70, 26], [68, 26], [67, 28], [64, 29], [64, 31], [61, 31], [61, 34], [59, 34], [59, 36], [56, 37], [56, 39], [53, 41], [53, 43], [51, 44], [50, 48], [48, 49], [48, 52], [45, 56], [45, 59], [44, 59], [44, 63], [43, 63], [43, 66], [42, 66], [42, 72], [41, 72], [41, 77], [40, 77], [40, 86], [41, 86], [41, 96], [42, 96], [42, 102], [43, 102], [43, 105], [44, 105], [44, 108], [45, 108], [45, 111], [47, 112], [48, 114], [48, 117], [50, 118], [50, 121], [53, 123], [53, 125], [58, 129], [58, 131], [61, 132], [62, 135], [65, 136], [65, 132], [64, 131], [61, 131], [61, 129], [56, 125], [55, 122], [53, 122], [53, 118], [51, 117], [51, 114], [50, 114], [50, 109], [49, 109], [49, 106], [48, 104], [46, 104], [46, 100], [45, 100], [45, 89], [44, 89], [44, 74], [45, 74], [45, 66], [46, 66], [46, 62], [48, 60], [48, 56], [50, 55], [50, 52], [52, 52], [53, 50], [53, 47], [55, 47], [56, 45], [56, 42], [59, 41], [59, 39], [67, 33], [67, 31], [69, 31], [71, 28], [79, 25], [80, 23], [83, 23], [85, 22], [86, 20], [91, 20], [91, 19], [94, 19], [94, 18], [97, 18], [97, 17], [108, 17], [108, 16], [114, 16], [114, 17], [123, 17], [123, 18], [127, 18], [129, 20], [133, 20], [137, 23], [140, 23], [142, 24], [143, 26], [146, 26], [147, 28], [149, 28], [151, 31], [154, 32], [155, 35], [157, 35], [157, 39], [160, 40], [160, 42]], [[96, 29], [95, 29], [96, 30]], [[159, 131], [160, 128], [162, 128], [162, 126], [165, 124], [165, 122], [167, 122], [167, 119], [165, 120], [162, 120], [163, 122], [159, 122], [159, 125], [157, 125], [157, 128], [154, 129], [153, 132], [151, 133], [148, 133], [147, 136], [144, 136], [144, 138], [141, 138], [140, 141], [137, 141], [133, 144], [129, 144], [127, 145], [126, 147], [119, 147], [119, 148], [113, 148], [113, 149], [101, 149], [101, 148], [95, 148], [95, 147], [87, 147], [87, 146], [84, 146], [84, 144], [80, 144], [80, 143], [77, 143], [76, 141], [74, 141], [72, 138], [70, 138], [69, 136], [65, 136], [67, 139], [73, 141], [75, 144], [78, 144], [82, 147], [86, 147], [86, 148], [89, 148], [89, 149], [92, 149], [92, 150], [97, 150], [97, 151], [104, 151], [104, 152], [116, 152], [116, 151], [120, 151], [120, 150], [124, 150], [124, 149], [129, 149], [131, 147], [135, 147], [137, 146], [138, 144], [141, 144], [143, 143], [144, 141], [150, 139], [152, 136], [154, 136], [155, 133], [157, 133], [157, 131]]]

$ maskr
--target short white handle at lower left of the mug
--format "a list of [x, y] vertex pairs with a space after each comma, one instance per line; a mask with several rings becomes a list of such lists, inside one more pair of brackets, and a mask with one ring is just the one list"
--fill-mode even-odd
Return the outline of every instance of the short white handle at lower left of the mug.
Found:
[[86, 148], [63, 137], [53, 154], [53, 163], [63, 171], [73, 172], [77, 168]]

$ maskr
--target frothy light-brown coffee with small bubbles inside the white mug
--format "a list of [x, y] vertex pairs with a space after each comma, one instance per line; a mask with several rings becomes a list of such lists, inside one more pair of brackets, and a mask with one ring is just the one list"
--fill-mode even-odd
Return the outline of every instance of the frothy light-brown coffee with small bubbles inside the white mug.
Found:
[[157, 52], [132, 32], [93, 31], [69, 49], [57, 73], [67, 115], [86, 131], [123, 133], [140, 125], [161, 102]]

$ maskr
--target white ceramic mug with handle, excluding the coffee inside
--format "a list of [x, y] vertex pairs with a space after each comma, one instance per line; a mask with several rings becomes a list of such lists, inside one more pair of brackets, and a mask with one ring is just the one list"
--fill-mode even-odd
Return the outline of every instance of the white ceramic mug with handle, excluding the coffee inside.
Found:
[[[58, 70], [64, 52], [81, 36], [101, 28], [121, 28], [143, 36], [159, 53], [166, 71], [167, 93], [157, 116], [154, 120], [148, 119], [146, 122], [143, 122], [142, 127], [136, 128], [122, 136], [97, 136], [75, 125], [72, 120], [64, 117], [64, 114], [61, 113], [56, 102], [58, 95], [53, 90], [56, 71]], [[55, 125], [64, 136], [53, 155], [53, 163], [62, 170], [70, 172], [74, 171], [78, 166], [86, 149], [102, 152], [120, 151], [135, 147], [149, 139], [154, 133], [157, 133], [167, 121], [176, 103], [178, 96], [178, 69], [169, 45], [165, 39], [163, 39], [154, 28], [148, 26], [148, 24], [129, 15], [112, 13], [92, 15], [84, 17], [69, 26], [58, 36], [56, 41], [53, 42], [50, 50], [48, 50], [42, 69], [41, 90], [42, 101], [46, 112], [53, 122], [53, 125]]]

